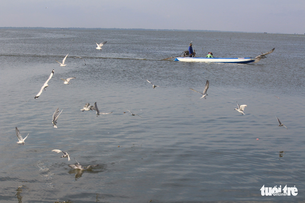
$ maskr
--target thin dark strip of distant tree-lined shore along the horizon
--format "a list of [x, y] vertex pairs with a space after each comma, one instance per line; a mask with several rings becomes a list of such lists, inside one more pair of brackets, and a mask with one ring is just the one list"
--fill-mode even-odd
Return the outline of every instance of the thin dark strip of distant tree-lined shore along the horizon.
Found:
[[[177, 29], [142, 29], [142, 28], [79, 28], [79, 27], [0, 27], [0, 30], [148, 30], [148, 31], [191, 31], [191, 32], [239, 32], [239, 33], [266, 33], [266, 32], [242, 32], [220, 30], [177, 30]], [[276, 33], [284, 34], [284, 33]]]

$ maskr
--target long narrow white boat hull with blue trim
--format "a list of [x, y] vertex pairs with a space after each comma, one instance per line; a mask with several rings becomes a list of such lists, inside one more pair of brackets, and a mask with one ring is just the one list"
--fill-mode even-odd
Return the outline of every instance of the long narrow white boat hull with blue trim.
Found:
[[185, 62], [210, 62], [210, 63], [251, 63], [255, 60], [252, 58], [191, 58], [176, 57], [175, 61]]

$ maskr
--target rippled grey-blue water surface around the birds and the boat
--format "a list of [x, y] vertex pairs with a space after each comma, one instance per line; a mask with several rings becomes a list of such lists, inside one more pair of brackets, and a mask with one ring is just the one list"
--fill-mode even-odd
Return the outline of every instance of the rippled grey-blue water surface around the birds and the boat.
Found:
[[[100, 51], [94, 40], [108, 42]], [[190, 43], [197, 57], [275, 51], [250, 64], [161, 60]], [[0, 30], [0, 202], [304, 202], [304, 45], [286, 34]], [[200, 99], [189, 88], [207, 80]], [[80, 110], [95, 102], [113, 113]], [[99, 166], [72, 169], [73, 157]]]

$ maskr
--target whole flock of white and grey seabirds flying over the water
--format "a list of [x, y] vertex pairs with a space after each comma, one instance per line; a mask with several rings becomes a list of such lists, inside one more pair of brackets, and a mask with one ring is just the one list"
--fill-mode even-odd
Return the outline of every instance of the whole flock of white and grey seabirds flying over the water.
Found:
[[[102, 47], [104, 44], [106, 44], [106, 42], [107, 42], [107, 41], [98, 44], [98, 43], [95, 41], [95, 43], [96, 43], [96, 45], [97, 45], [96, 49], [101, 50], [101, 49], [102, 49], [101, 47]], [[262, 58], [266, 58], [265, 55], [267, 55], [267, 54], [269, 54], [269, 53], [272, 53], [272, 52], [274, 51], [274, 49], [275, 49], [275, 48], [273, 48], [271, 51], [269, 51], [269, 52], [267, 52], [267, 53], [262, 53], [261, 55], [257, 56], [255, 62], [260, 61], [260, 59], [262, 59]], [[57, 61], [56, 59], [55, 59], [55, 61], [58, 62], [58, 63], [60, 64], [60, 66], [66, 66], [67, 64], [65, 64], [65, 60], [66, 60], [67, 56], [68, 56], [68, 54], [63, 58], [63, 62], [62, 62], [62, 63], [59, 62], [59, 61]], [[82, 57], [79, 57], [79, 56], [77, 56], [77, 57], [75, 57], [75, 58], [81, 58], [81, 59], [83, 59]], [[74, 58], [74, 59], [75, 59], [75, 58]], [[85, 60], [84, 60], [84, 59], [83, 59], [83, 61], [84, 61], [84, 63], [85, 63]], [[85, 63], [85, 65], [86, 65], [86, 63]], [[49, 78], [47, 79], [47, 81], [45, 81], [45, 83], [44, 83], [43, 86], [41, 87], [41, 89], [40, 89], [40, 91], [38, 92], [38, 94], [35, 96], [35, 99], [37, 99], [37, 98], [41, 95], [41, 93], [43, 92], [43, 90], [45, 90], [45, 88], [49, 86], [49, 85], [48, 85], [48, 82], [49, 82], [49, 80], [52, 78], [53, 75], [54, 75], [54, 69], [52, 70], [52, 72], [51, 72]], [[67, 79], [61, 78], [61, 80], [64, 81], [64, 84], [69, 84], [69, 81], [72, 80], [72, 79], [75, 79], [75, 77], [70, 77], [70, 78], [67, 78]], [[146, 79], [146, 81], [148, 81], [148, 80]], [[154, 85], [154, 84], [153, 84], [152, 82], [150, 82], [150, 81], [148, 81], [148, 82], [149, 82], [150, 84], [153, 85], [153, 89], [156, 89], [156, 87], [162, 87], [162, 86]], [[162, 88], [165, 88], [165, 87], [162, 87]], [[205, 86], [204, 86], [203, 92], [199, 92], [199, 91], [197, 91], [197, 90], [194, 90], [194, 89], [190, 88], [190, 90], [193, 90], [193, 91], [195, 91], [195, 92], [197, 92], [197, 93], [200, 93], [200, 94], [202, 95], [202, 97], [200, 97], [200, 99], [202, 99], [202, 98], [207, 99], [206, 96], [208, 96], [208, 94], [207, 94], [207, 90], [208, 90], [208, 89], [209, 89], [209, 81], [208, 81], [208, 80], [206, 81], [206, 84], [205, 84]], [[234, 110], [237, 110], [239, 113], [242, 113], [242, 115], [246, 115], [246, 114], [244, 113], [244, 110], [245, 110], [246, 106], [247, 106], [246, 104], [239, 105], [239, 104], [237, 103], [237, 107], [238, 107], [238, 108], [235, 108]], [[93, 110], [95, 110], [95, 111], [96, 111], [96, 117], [100, 116], [100, 114], [109, 114], [109, 113], [112, 113], [112, 112], [109, 112], [109, 113], [101, 113], [101, 112], [99, 111], [99, 109], [97, 108], [96, 102], [94, 103], [93, 106], [90, 106], [89, 103], [86, 103], [86, 104], [84, 105], [84, 107], [83, 107], [82, 109], [80, 109], [80, 110], [83, 111], [83, 112], [84, 112], [84, 111], [93, 111]], [[127, 110], [127, 111], [129, 111], [129, 110]], [[53, 123], [54, 128], [57, 128], [57, 120], [58, 120], [58, 118], [59, 118], [59, 115], [60, 115], [62, 112], [63, 112], [63, 110], [61, 110], [61, 112], [59, 113], [59, 108], [56, 108], [56, 110], [55, 110], [55, 112], [54, 112], [54, 114], [53, 114], [53, 120], [52, 120], [52, 123]], [[139, 117], [141, 117], [140, 115], [134, 114], [134, 113], [132, 113], [131, 111], [129, 111], [129, 112], [131, 113], [132, 116], [139, 116]], [[124, 112], [124, 113], [125, 113], [125, 112]], [[276, 116], [275, 116], [275, 117], [276, 117]], [[142, 117], [141, 117], [141, 118], [142, 118]], [[276, 118], [277, 118], [277, 117], [276, 117]], [[278, 126], [282, 126], [283, 128], [285, 127], [285, 128], [287, 129], [287, 127], [286, 127], [284, 124], [282, 124], [282, 123], [280, 122], [279, 118], [277, 118], [277, 120], [278, 120], [278, 122], [279, 122], [279, 125], [278, 125]], [[25, 138], [22, 138], [20, 131], [19, 131], [18, 128], [16, 127], [16, 136], [17, 136], [17, 138], [18, 138], [18, 142], [17, 142], [17, 143], [18, 143], [18, 144], [24, 145], [25, 140], [26, 140], [26, 138], [29, 136], [29, 134], [27, 134], [27, 136], [26, 136]], [[70, 155], [69, 155], [67, 152], [64, 152], [64, 151], [61, 151], [61, 150], [57, 150], [57, 149], [52, 150], [52, 152], [63, 153], [63, 156], [61, 156], [61, 158], [68, 158], [68, 161], [71, 160], [71, 159], [70, 159]], [[74, 158], [74, 157], [73, 157], [73, 158]], [[74, 158], [74, 160], [77, 162], [77, 160], [76, 160], [75, 158]], [[77, 162], [77, 164], [70, 164], [70, 165], [68, 165], [68, 166], [69, 166], [70, 168], [73, 168], [73, 169], [85, 170], [85, 169], [89, 169], [89, 168], [91, 168], [91, 167], [97, 167], [98, 164], [89, 165], [89, 166], [83, 166], [83, 165], [81, 165], [81, 164], [79, 164], [79, 163]]]

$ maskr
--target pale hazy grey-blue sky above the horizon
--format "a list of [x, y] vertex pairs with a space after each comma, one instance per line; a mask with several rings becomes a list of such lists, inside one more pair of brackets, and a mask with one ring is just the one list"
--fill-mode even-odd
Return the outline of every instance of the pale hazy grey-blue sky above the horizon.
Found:
[[305, 0], [2, 0], [0, 6], [0, 27], [304, 34], [304, 20]]

